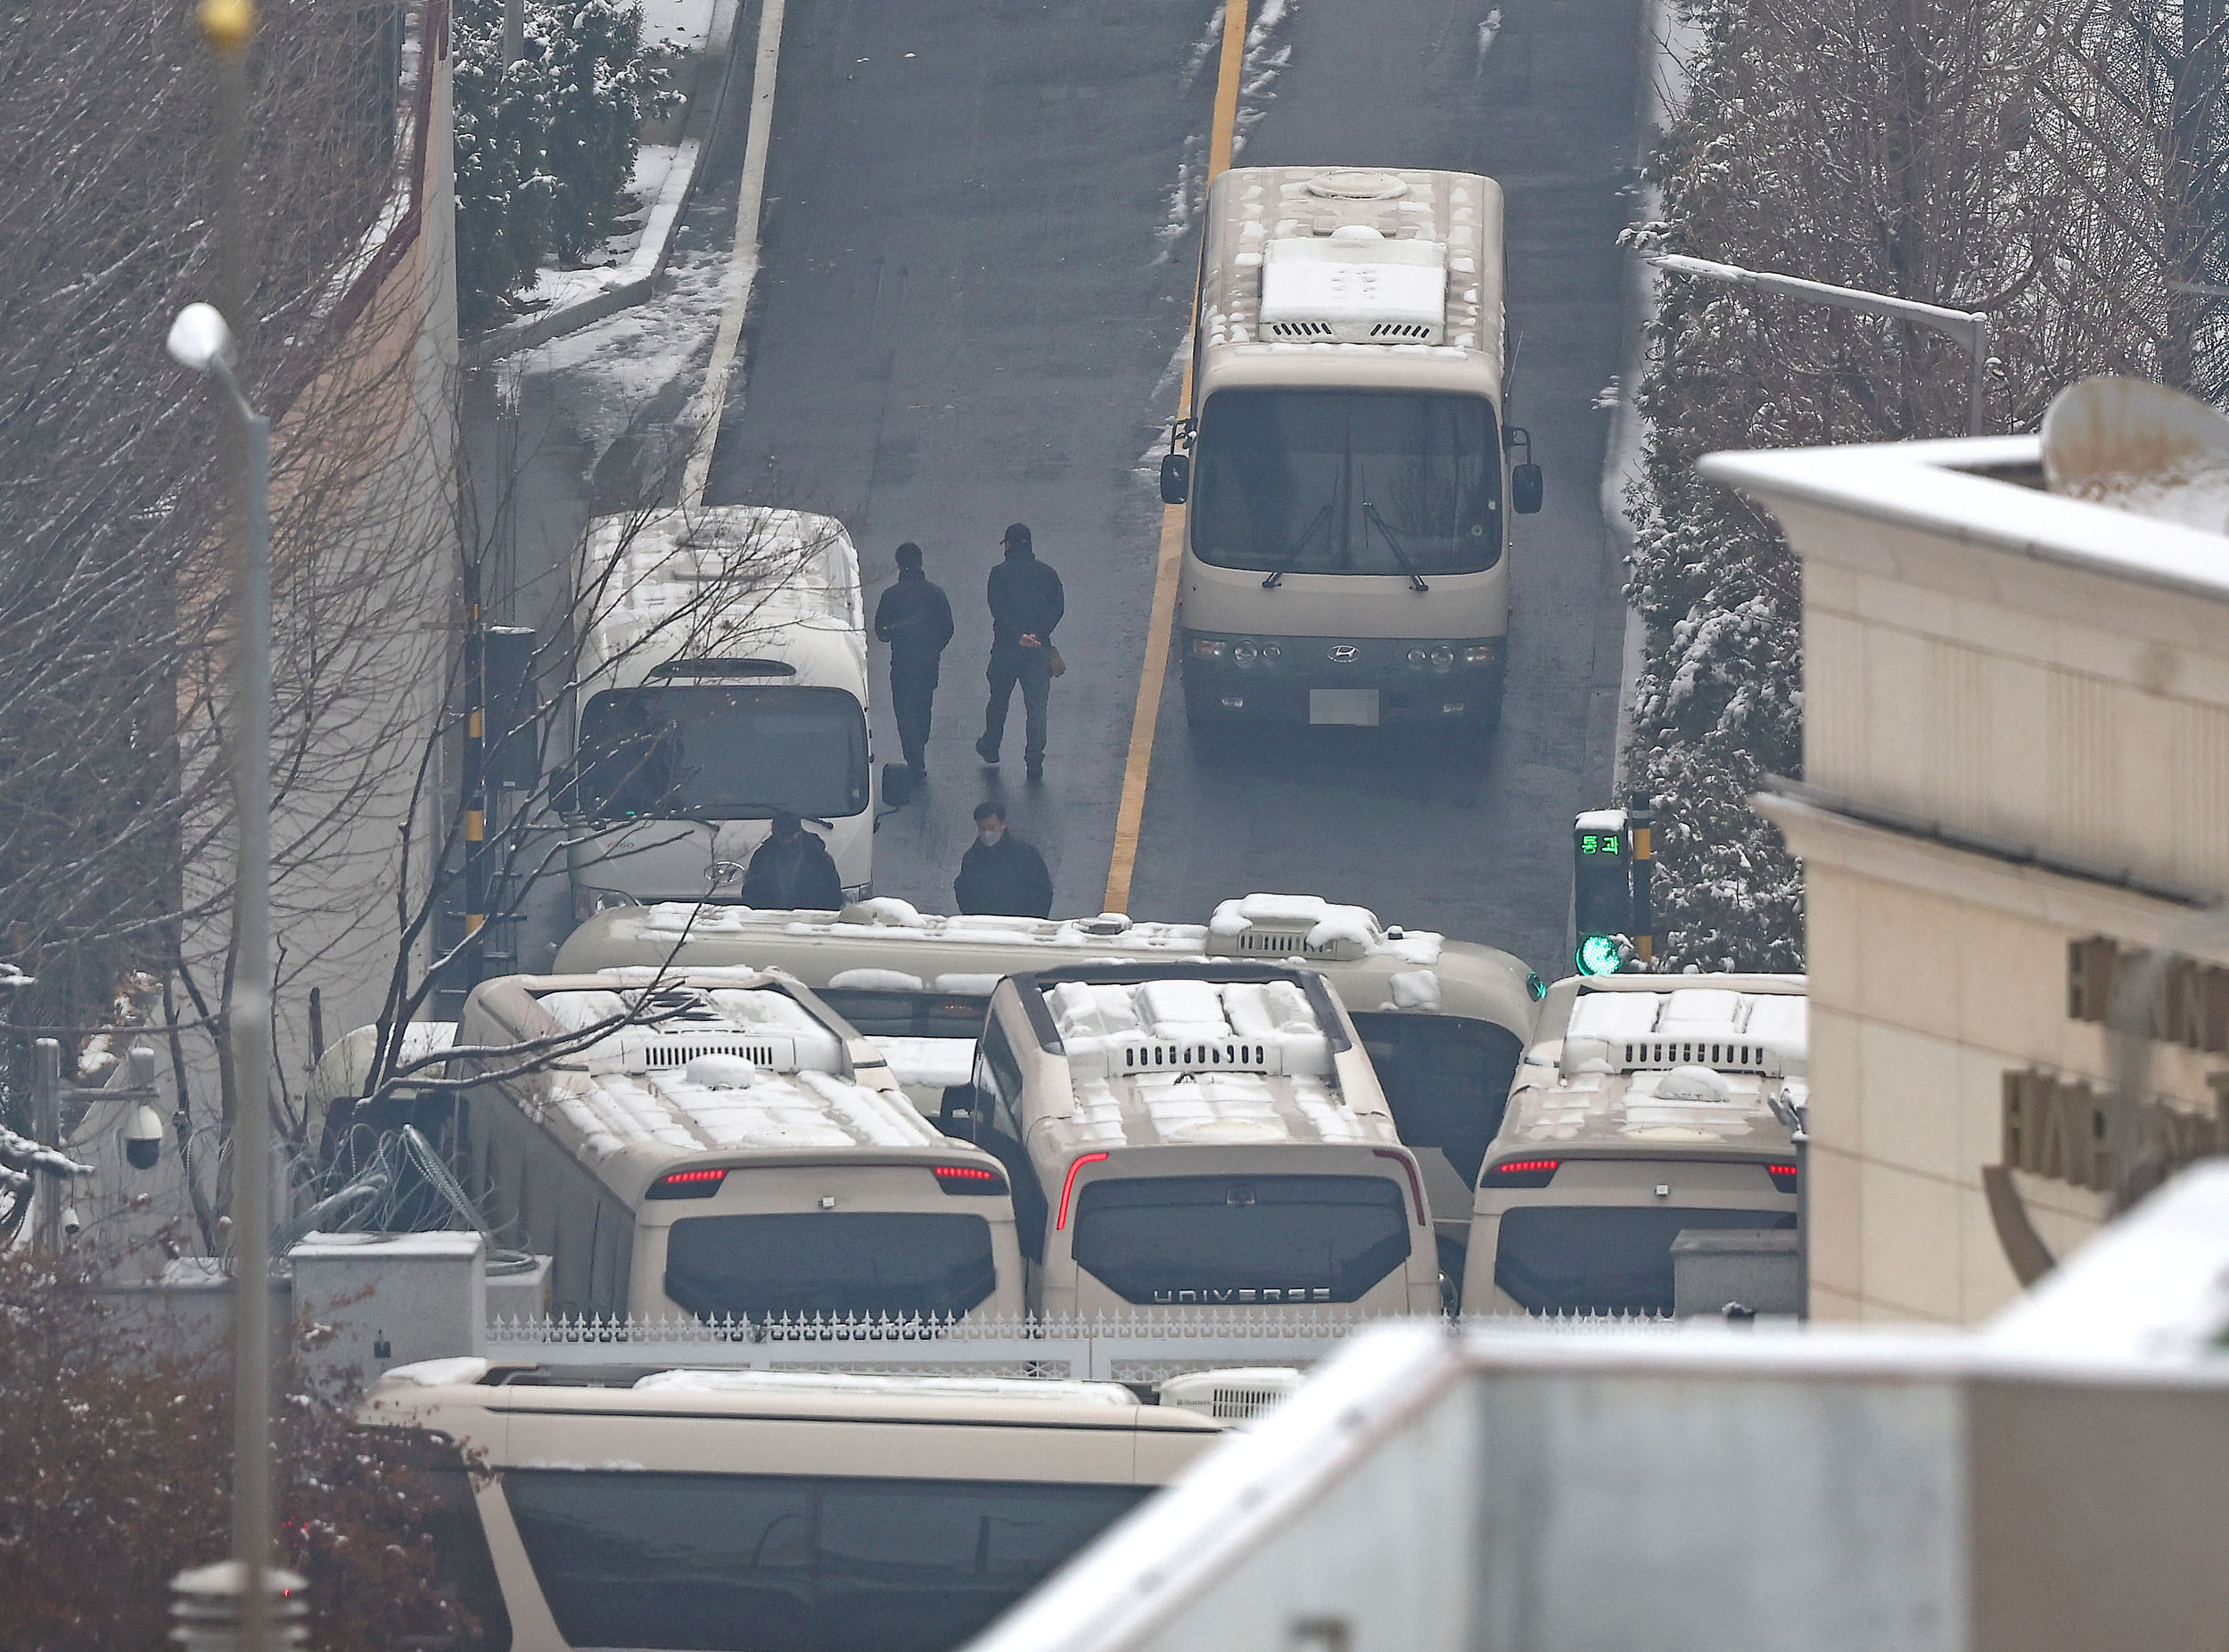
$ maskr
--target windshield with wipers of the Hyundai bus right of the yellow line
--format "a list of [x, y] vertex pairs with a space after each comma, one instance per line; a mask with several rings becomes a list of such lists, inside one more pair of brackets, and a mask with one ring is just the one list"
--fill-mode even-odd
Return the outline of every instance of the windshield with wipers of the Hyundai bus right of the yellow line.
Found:
[[1193, 453], [1193, 555], [1219, 569], [1427, 577], [1500, 562], [1485, 397], [1217, 390]]

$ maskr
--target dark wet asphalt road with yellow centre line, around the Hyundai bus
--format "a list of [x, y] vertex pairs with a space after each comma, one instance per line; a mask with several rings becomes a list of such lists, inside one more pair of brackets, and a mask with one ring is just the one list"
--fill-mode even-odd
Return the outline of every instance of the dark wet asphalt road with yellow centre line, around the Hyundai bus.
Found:
[[[1616, 729], [1625, 611], [1594, 401], [1625, 325], [1638, 11], [1293, 0], [1255, 25], [1239, 165], [1502, 181], [1522, 334], [1511, 417], [1549, 506], [1518, 519], [1509, 702], [1482, 754], [1378, 731], [1195, 745], [1170, 671], [1135, 916], [1317, 892], [1560, 972], [1569, 820], [1607, 800]], [[954, 597], [929, 789], [883, 825], [883, 894], [950, 910], [970, 809], [999, 796], [1052, 863], [1054, 910], [1101, 903], [1161, 519], [1148, 450], [1172, 412], [1199, 245], [1197, 210], [1172, 218], [1172, 198], [1186, 178], [1197, 203], [1215, 27], [1197, 0], [958, 0], [934, 18], [791, 0], [749, 377], [709, 499], [843, 517], [874, 589], [892, 546], [918, 540]], [[1068, 584], [1043, 785], [1019, 774], [1019, 733], [996, 776], [970, 749], [983, 577], [1012, 519]], [[896, 756], [887, 707], [876, 747]]]

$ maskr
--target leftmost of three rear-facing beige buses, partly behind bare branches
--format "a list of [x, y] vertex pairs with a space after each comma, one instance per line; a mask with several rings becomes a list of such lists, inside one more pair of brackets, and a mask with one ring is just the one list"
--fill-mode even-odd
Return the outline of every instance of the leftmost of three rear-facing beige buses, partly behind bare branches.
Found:
[[1005, 1170], [923, 1119], [785, 974], [504, 976], [466, 999], [455, 1048], [452, 1072], [490, 1075], [464, 1092], [461, 1179], [497, 1233], [551, 1257], [559, 1315], [1023, 1306]]

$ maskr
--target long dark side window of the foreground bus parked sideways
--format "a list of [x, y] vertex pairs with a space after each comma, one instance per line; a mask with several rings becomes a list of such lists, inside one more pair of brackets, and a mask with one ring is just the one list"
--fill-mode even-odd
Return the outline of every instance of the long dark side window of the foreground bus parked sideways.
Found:
[[568, 1645], [945, 1652], [1152, 1487], [508, 1469]]

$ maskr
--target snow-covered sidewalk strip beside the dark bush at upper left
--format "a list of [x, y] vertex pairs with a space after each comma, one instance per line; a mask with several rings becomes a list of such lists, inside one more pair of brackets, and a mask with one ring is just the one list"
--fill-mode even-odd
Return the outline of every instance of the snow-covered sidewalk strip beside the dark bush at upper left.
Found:
[[695, 190], [698, 161], [713, 132], [729, 89], [736, 13], [742, 0], [644, 0], [642, 33], [653, 45], [684, 51], [673, 82], [684, 105], [666, 120], [644, 123], [631, 192], [644, 203], [642, 223], [604, 243], [609, 263], [584, 270], [542, 270], [522, 297], [546, 305], [464, 341], [464, 366], [484, 368], [537, 343], [562, 339], [593, 321], [642, 303], [673, 256], [682, 207]]

